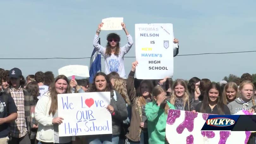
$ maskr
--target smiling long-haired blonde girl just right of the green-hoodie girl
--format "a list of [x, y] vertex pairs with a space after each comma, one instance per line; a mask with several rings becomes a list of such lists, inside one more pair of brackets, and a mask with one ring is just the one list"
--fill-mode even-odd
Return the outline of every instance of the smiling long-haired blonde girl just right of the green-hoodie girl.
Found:
[[195, 110], [192, 99], [189, 96], [187, 84], [184, 80], [177, 79], [175, 81], [170, 103], [175, 106], [176, 110]]

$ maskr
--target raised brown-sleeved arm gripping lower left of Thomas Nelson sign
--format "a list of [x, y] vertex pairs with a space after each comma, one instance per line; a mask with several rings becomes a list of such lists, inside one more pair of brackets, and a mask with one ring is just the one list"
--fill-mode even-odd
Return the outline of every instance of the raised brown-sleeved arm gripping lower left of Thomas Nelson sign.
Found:
[[134, 99], [136, 97], [136, 91], [134, 87], [134, 75], [135, 75], [135, 69], [137, 65], [138, 65], [138, 61], [135, 61], [131, 64], [131, 72], [128, 75], [128, 78], [126, 81], [127, 94], [129, 96], [131, 103], [134, 102]]

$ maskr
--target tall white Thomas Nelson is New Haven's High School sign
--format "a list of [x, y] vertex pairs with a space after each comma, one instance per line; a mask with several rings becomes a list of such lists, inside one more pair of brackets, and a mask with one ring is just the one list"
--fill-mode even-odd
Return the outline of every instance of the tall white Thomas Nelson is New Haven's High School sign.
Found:
[[135, 24], [138, 79], [163, 79], [173, 76], [173, 39], [171, 23]]

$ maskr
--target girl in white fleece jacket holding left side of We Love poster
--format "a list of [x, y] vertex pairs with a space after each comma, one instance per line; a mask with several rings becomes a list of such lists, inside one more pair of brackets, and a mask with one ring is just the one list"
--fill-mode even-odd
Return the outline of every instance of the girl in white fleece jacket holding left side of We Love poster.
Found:
[[36, 139], [42, 144], [71, 144], [74, 137], [59, 137], [58, 125], [62, 123], [63, 118], [58, 117], [57, 94], [71, 93], [68, 78], [59, 75], [55, 79], [55, 84], [51, 90], [45, 93], [37, 102], [35, 107], [35, 119], [38, 121], [38, 130]]

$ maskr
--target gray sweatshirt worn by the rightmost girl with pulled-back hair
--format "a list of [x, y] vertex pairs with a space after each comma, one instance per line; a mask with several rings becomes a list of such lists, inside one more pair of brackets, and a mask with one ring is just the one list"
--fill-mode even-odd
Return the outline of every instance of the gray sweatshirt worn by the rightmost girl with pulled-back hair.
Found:
[[233, 115], [241, 110], [248, 110], [253, 106], [252, 100], [244, 103], [240, 100], [240, 98], [235, 99], [234, 101], [230, 102], [228, 105], [230, 114]]

